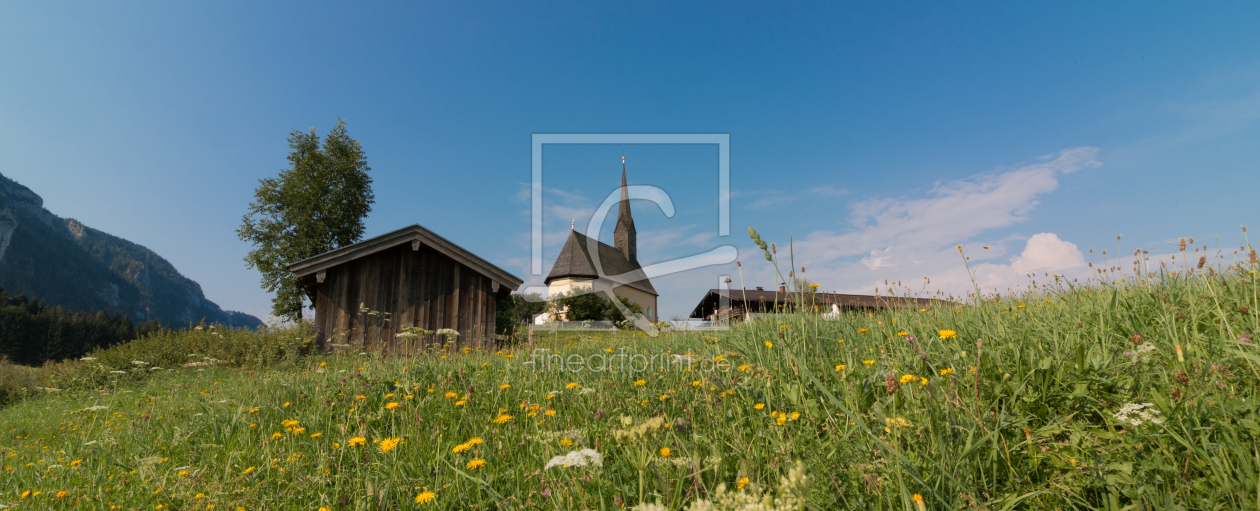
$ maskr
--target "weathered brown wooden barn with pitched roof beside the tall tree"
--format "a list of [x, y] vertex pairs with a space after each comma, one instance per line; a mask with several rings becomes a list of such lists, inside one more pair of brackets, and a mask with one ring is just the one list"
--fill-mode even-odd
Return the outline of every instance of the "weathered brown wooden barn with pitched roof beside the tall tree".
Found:
[[522, 281], [420, 225], [289, 266], [315, 303], [316, 342], [408, 355], [444, 339], [397, 337], [403, 326], [460, 332], [452, 347], [488, 347], [499, 298]]

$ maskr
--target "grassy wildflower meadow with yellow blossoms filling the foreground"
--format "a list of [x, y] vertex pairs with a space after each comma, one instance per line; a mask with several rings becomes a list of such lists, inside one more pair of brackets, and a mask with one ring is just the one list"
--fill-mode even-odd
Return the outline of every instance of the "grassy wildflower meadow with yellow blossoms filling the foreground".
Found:
[[0, 410], [0, 505], [1257, 508], [1256, 274], [1106, 277], [406, 359], [165, 332]]

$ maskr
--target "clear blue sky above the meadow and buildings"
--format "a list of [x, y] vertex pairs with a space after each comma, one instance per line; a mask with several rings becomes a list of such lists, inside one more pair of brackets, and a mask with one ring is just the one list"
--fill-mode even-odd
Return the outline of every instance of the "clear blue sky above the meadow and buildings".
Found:
[[[747, 225], [867, 293], [965, 288], [956, 244], [993, 247], [998, 289], [1085, 274], [1116, 234], [1236, 248], [1260, 190], [1260, 4], [1096, 4], [6, 3], [0, 174], [261, 317], [234, 229], [289, 132], [338, 117], [373, 169], [369, 235], [420, 223], [530, 282], [536, 132], [731, 135], [731, 238], [712, 147], [548, 150], [548, 259], [622, 155], [678, 206], [636, 204], [640, 258], [731, 243], [750, 287], [774, 277]], [[663, 278], [663, 316], [732, 269]]]

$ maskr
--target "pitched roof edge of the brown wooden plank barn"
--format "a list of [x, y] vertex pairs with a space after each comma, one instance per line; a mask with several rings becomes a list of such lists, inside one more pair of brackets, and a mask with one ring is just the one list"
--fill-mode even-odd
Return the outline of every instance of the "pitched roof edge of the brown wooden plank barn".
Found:
[[420, 224], [408, 225], [375, 238], [364, 239], [359, 243], [349, 244], [309, 259], [299, 261], [290, 264], [289, 271], [294, 274], [294, 277], [300, 279], [349, 261], [412, 242], [432, 248], [433, 250], [437, 250], [437, 253], [455, 259], [460, 264], [484, 274], [486, 278], [498, 282], [508, 289], [515, 289], [524, 283], [524, 281], [517, 278], [517, 276], [508, 273], [503, 268], [499, 268], [480, 257], [476, 257], [476, 254], [465, 250], [462, 247], [435, 234], [432, 230], [420, 227]]

